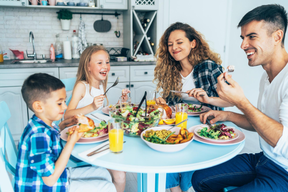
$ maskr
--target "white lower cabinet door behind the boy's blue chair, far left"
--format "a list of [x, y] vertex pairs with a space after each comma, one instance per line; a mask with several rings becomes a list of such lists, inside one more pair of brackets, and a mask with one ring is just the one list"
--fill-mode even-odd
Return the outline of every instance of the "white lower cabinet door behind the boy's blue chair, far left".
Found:
[[28, 123], [27, 105], [21, 94], [21, 87], [0, 87], [0, 101], [5, 101], [11, 113], [7, 121], [11, 134], [18, 141]]

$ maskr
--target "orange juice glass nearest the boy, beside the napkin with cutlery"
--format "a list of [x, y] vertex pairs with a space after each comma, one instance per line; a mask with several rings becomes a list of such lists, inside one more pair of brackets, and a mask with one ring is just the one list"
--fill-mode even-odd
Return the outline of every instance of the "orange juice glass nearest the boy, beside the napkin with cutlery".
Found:
[[123, 119], [114, 118], [108, 121], [109, 148], [112, 153], [123, 151]]

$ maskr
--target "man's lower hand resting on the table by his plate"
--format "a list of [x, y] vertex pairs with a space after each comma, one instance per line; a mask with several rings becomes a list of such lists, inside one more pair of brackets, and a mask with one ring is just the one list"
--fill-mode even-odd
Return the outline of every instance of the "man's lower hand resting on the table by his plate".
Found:
[[210, 110], [207, 113], [200, 114], [200, 121], [206, 124], [206, 119], [210, 120], [211, 124], [215, 124], [217, 121], [227, 121], [229, 111], [214, 111]]

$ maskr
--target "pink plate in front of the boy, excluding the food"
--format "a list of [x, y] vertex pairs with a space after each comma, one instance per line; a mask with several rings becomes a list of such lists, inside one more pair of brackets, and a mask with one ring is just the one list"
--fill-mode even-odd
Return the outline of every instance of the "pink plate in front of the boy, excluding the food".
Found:
[[[62, 140], [67, 141], [68, 135], [66, 133], [68, 132], [68, 129], [73, 126], [67, 127], [60, 132], [60, 138]], [[98, 127], [99, 123], [95, 123], [95, 126]], [[108, 139], [108, 133], [97, 137], [81, 137], [76, 143], [79, 144], [98, 143], [105, 141], [107, 139]]]

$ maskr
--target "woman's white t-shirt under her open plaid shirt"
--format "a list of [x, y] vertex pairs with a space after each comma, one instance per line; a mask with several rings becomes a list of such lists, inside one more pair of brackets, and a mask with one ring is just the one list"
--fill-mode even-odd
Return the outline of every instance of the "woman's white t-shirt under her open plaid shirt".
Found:
[[[194, 79], [193, 79], [193, 71], [194, 71], [194, 69], [186, 77], [183, 77], [183, 75], [180, 73], [180, 75], [182, 77], [182, 83], [183, 83], [182, 90], [181, 90], [182, 92], [186, 92], [186, 91], [189, 91], [189, 90], [196, 88], [195, 83], [194, 83]], [[197, 99], [195, 99], [194, 97], [189, 97], [187, 93], [186, 94], [181, 93], [181, 96], [182, 96], [182, 102], [183, 103], [200, 104]]]

